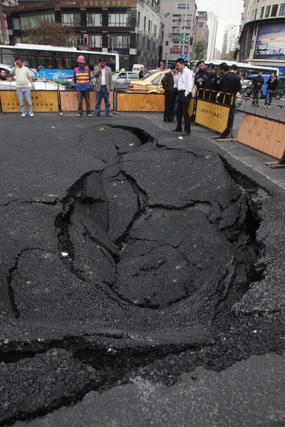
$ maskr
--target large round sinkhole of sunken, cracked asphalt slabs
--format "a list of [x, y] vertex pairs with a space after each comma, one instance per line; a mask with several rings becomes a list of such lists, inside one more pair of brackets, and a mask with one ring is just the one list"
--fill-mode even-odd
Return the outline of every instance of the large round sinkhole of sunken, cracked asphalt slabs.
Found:
[[264, 272], [261, 191], [217, 154], [142, 142], [68, 189], [60, 258], [107, 297], [88, 301], [88, 322], [109, 303], [123, 307], [123, 328], [207, 329]]

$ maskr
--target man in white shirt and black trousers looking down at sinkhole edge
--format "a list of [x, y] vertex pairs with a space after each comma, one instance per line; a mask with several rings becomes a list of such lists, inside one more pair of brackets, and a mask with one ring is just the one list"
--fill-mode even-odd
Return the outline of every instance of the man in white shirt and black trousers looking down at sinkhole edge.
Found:
[[176, 60], [176, 68], [179, 71], [177, 85], [177, 126], [173, 132], [182, 132], [182, 117], [184, 117], [185, 132], [182, 135], [190, 135], [189, 104], [193, 88], [192, 71], [185, 66], [185, 60], [182, 58]]

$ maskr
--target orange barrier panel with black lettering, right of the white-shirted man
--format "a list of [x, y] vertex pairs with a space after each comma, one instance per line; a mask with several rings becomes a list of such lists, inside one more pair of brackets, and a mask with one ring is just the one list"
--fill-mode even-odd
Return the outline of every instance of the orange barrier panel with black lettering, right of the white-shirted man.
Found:
[[227, 129], [230, 108], [225, 105], [215, 104], [197, 99], [195, 123], [208, 127], [217, 132]]

